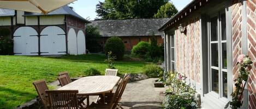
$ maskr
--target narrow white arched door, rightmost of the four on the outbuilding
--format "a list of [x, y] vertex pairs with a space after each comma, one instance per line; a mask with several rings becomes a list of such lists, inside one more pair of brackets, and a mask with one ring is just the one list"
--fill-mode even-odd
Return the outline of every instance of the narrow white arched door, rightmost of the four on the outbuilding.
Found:
[[78, 32], [78, 54], [85, 54], [85, 35], [83, 31]]

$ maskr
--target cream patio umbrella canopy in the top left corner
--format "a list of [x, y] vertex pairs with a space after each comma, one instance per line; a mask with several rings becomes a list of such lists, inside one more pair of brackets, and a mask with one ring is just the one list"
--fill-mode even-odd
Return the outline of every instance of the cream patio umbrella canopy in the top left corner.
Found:
[[0, 0], [0, 8], [47, 14], [76, 0]]

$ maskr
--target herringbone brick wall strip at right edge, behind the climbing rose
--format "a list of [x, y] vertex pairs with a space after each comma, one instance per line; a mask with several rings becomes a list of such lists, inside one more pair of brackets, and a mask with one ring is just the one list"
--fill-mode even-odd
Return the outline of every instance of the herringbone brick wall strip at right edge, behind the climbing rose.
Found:
[[[256, 61], [256, 1], [247, 0], [247, 39], [248, 55]], [[249, 109], [256, 108], [256, 67], [253, 66], [248, 80]]]

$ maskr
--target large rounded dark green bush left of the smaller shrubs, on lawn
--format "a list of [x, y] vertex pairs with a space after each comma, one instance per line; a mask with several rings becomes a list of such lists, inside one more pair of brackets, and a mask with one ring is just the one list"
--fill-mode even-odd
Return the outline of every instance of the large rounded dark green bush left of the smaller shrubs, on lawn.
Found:
[[105, 54], [112, 52], [117, 60], [122, 60], [124, 55], [124, 44], [119, 37], [110, 37], [105, 43]]

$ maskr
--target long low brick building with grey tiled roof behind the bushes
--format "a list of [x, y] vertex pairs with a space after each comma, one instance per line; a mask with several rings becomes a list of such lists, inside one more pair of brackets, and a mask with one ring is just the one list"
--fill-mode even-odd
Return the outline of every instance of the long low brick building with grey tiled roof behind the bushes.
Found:
[[133, 46], [140, 41], [148, 42], [154, 35], [159, 45], [163, 44], [163, 33], [158, 32], [158, 28], [168, 21], [168, 18], [153, 19], [132, 19], [132, 20], [103, 20], [91, 21], [90, 25], [98, 27], [100, 43], [102, 47], [109, 37], [117, 36], [123, 40], [126, 50], [132, 50]]

